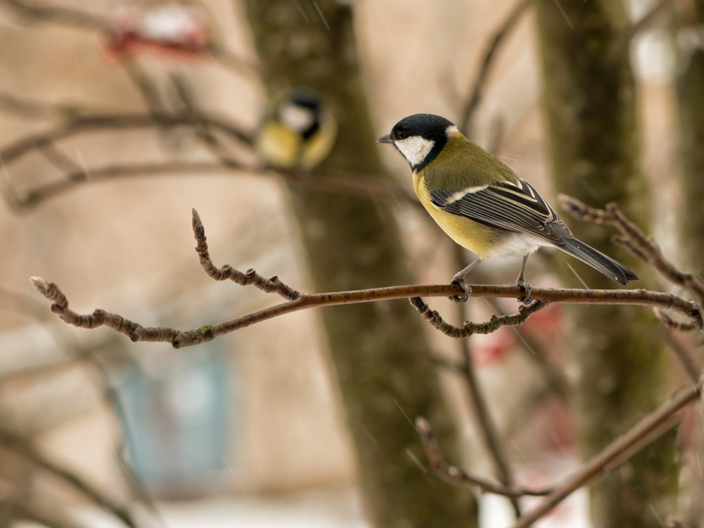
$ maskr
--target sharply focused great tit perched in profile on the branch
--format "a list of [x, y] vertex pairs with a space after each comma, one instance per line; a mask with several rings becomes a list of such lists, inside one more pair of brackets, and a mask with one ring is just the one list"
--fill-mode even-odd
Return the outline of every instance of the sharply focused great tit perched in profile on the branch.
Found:
[[413, 187], [420, 202], [451, 239], [477, 253], [467, 268], [453, 277], [465, 296], [467, 275], [482, 260], [522, 256], [516, 284], [530, 298], [525, 282], [526, 261], [540, 246], [551, 246], [579, 258], [620, 284], [638, 276], [616, 260], [574, 238], [565, 222], [530, 184], [508, 165], [470, 142], [452, 122], [439, 115], [409, 115], [394, 125], [379, 143], [396, 146], [413, 170]]

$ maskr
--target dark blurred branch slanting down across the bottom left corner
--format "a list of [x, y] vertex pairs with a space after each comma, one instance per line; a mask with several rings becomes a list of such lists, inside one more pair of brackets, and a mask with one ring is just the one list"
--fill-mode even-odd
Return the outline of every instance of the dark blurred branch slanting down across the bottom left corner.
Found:
[[42, 453], [39, 453], [26, 438], [11, 432], [9, 429], [0, 425], [0, 444], [12, 449], [15, 453], [29, 460], [37, 467], [54, 474], [63, 482], [70, 484], [74, 489], [80, 491], [81, 494], [90, 498], [94, 503], [101, 508], [111, 512], [115, 517], [118, 517], [123, 523], [131, 528], [137, 528], [139, 523], [134, 519], [129, 508], [118, 503], [115, 499], [108, 497], [99, 489], [96, 489], [91, 484], [88, 484], [74, 472], [58, 465], [57, 463], [46, 458]]

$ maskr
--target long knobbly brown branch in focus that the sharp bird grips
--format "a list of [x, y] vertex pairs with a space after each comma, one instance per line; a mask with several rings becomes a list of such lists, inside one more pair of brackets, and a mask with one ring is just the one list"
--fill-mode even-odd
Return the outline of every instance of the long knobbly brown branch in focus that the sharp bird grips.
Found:
[[[206, 260], [206, 271], [210, 269], [212, 263], [208, 263], [207, 244], [205, 230], [196, 211], [194, 210], [193, 227], [196, 240], [198, 241], [199, 258], [203, 256]], [[213, 267], [214, 268], [214, 267]], [[256, 278], [247, 277], [248, 274], [231, 267], [223, 266], [220, 270], [214, 268], [210, 272], [218, 279], [231, 279], [244, 284], [254, 284], [255, 286], [272, 288], [270, 291], [296, 292], [296, 290], [280, 283], [279, 279], [263, 279], [263, 282]], [[253, 272], [251, 272], [253, 273]], [[222, 277], [222, 278], [220, 278]], [[245, 278], [242, 278], [245, 277]], [[382, 288], [370, 288], [352, 291], [334, 291], [325, 294], [303, 294], [287, 303], [278, 304], [270, 308], [264, 308], [258, 312], [249, 313], [230, 321], [222, 322], [218, 325], [203, 325], [200, 328], [184, 332], [182, 330], [168, 327], [144, 327], [136, 322], [127, 320], [121, 315], [106, 312], [105, 310], [95, 310], [89, 315], [80, 315], [68, 308], [68, 300], [54, 283], [47, 282], [42, 277], [32, 277], [30, 279], [34, 288], [50, 301], [54, 301], [51, 311], [56, 313], [62, 320], [70, 325], [82, 328], [96, 328], [107, 326], [115, 332], [125, 334], [132, 341], [161, 341], [170, 342], [175, 348], [181, 346], [191, 346], [205, 341], [211, 341], [222, 334], [234, 332], [234, 330], [248, 327], [257, 322], [265, 321], [292, 313], [313, 306], [335, 306], [341, 304], [367, 303], [381, 301], [382, 299], [413, 298], [413, 297], [439, 297], [463, 295], [464, 290], [457, 284], [424, 284], [391, 286]], [[240, 283], [242, 283], [240, 282]], [[472, 296], [475, 297], [513, 297], [520, 298], [524, 291], [517, 286], [501, 286], [496, 284], [472, 284]], [[265, 290], [268, 291], [268, 290]], [[612, 304], [612, 305], [637, 305], [637, 306], [658, 306], [660, 308], [672, 308], [683, 313], [693, 320], [696, 328], [701, 329], [703, 325], [702, 314], [697, 303], [686, 301], [684, 298], [674, 294], [665, 294], [658, 291], [637, 290], [593, 290], [593, 289], [553, 289], [536, 288], [532, 290], [535, 301], [529, 306], [522, 307], [519, 313], [505, 315], [501, 318], [494, 316], [489, 322], [465, 323], [462, 328], [452, 327], [442, 320], [440, 315], [433, 310], [423, 310], [432, 318], [441, 329], [446, 329], [446, 333], [453, 337], [463, 337], [465, 332], [472, 329], [474, 333], [494, 332], [502, 325], [520, 324], [531, 313], [543, 308], [551, 302], [574, 303], [574, 304]], [[420, 301], [422, 303], [422, 301]], [[422, 308], [422, 305], [415, 303]], [[425, 304], [425, 303], [424, 303]], [[444, 330], [445, 331], [445, 330]], [[468, 335], [468, 334], [467, 334]]]

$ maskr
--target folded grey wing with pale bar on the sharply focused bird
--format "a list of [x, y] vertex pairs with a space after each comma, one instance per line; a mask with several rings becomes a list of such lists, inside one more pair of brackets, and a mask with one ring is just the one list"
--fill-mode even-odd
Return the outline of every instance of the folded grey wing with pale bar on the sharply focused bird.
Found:
[[523, 180], [461, 191], [428, 190], [435, 206], [475, 222], [531, 234], [558, 246], [573, 238], [558, 213]]

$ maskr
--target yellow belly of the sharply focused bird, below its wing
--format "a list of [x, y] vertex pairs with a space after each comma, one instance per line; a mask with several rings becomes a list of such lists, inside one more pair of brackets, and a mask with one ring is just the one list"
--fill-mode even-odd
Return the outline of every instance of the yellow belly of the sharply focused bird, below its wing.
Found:
[[482, 258], [487, 258], [491, 256], [491, 253], [494, 253], [497, 246], [503, 244], [506, 232], [501, 232], [495, 227], [474, 222], [474, 220], [460, 215], [453, 215], [434, 206], [425, 184], [422, 184], [417, 174], [413, 175], [413, 188], [420, 203], [430, 213], [437, 225], [463, 248], [477, 253]]

